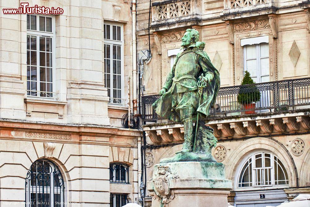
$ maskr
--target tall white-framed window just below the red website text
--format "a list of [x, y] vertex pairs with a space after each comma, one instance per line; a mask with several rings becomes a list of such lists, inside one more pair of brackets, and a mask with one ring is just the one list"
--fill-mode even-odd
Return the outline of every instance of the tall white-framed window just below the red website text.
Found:
[[54, 16], [27, 15], [27, 96], [53, 98]]

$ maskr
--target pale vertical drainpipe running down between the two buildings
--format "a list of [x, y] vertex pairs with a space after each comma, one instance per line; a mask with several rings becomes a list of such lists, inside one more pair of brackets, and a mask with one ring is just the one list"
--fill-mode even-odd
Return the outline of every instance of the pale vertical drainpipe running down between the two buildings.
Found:
[[137, 114], [137, 40], [136, 40], [136, 0], [132, 0], [132, 95], [133, 113]]

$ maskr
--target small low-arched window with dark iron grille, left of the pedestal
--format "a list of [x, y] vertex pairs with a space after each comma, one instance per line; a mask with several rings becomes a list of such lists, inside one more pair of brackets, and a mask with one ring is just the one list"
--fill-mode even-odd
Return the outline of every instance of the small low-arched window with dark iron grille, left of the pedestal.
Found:
[[129, 183], [129, 166], [120, 163], [110, 164], [110, 182]]

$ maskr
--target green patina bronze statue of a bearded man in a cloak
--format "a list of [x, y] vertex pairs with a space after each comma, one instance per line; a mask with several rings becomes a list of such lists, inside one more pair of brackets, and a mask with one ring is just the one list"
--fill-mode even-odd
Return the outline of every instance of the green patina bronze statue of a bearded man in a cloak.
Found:
[[[206, 127], [201, 118], [209, 115], [219, 91], [219, 72], [203, 51], [205, 43], [199, 41], [196, 29], [187, 29], [180, 52], [155, 101], [156, 113], [184, 124], [184, 143], [181, 151], [161, 162], [212, 161], [211, 149], [217, 139], [212, 128]], [[194, 127], [193, 123], [196, 123]]]

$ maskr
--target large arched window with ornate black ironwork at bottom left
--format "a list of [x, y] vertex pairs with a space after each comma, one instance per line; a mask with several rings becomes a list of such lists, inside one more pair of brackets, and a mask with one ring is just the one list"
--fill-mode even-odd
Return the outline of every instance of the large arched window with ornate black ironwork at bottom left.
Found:
[[64, 180], [49, 160], [35, 161], [26, 176], [26, 206], [64, 206]]

